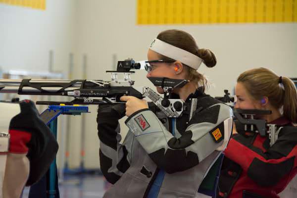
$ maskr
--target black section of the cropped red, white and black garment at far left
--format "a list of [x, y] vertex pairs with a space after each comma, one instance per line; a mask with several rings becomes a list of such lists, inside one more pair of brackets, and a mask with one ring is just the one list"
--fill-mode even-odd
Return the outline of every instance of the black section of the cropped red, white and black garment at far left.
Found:
[[48, 171], [55, 158], [58, 143], [49, 127], [40, 119], [39, 112], [31, 100], [20, 102], [21, 112], [10, 120], [9, 130], [31, 133], [27, 157], [30, 161], [30, 174], [26, 186], [39, 181]]

